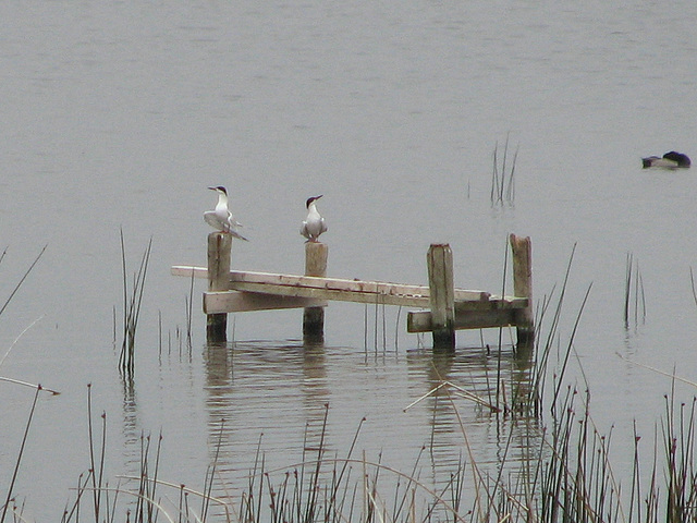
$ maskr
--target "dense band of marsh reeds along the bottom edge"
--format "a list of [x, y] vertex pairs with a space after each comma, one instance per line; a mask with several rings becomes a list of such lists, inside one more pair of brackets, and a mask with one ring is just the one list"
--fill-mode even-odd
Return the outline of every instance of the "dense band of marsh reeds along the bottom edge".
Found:
[[[558, 413], [542, 435], [527, 447], [529, 455], [513, 457], [512, 431], [504, 438], [500, 462], [477, 463], [467, 428], [460, 418], [457, 400], [447, 401], [457, 413], [467, 459], [461, 459], [440, 486], [421, 479], [425, 448], [411, 471], [402, 472], [362, 452], [356, 455], [363, 422], [345, 455], [330, 452], [327, 412], [318, 443], [306, 440], [301, 461], [268, 470], [261, 451], [246, 478], [246, 488], [230, 494], [217, 474], [220, 439], [203, 488], [194, 489], [158, 477], [160, 448], [142, 437], [140, 472], [123, 476], [115, 487], [102, 483], [103, 446], [91, 459], [89, 471], [77, 482], [75, 500], [63, 522], [204, 522], [309, 523], [309, 522], [608, 522], [670, 523], [695, 521], [697, 503], [694, 438], [697, 401], [677, 403], [674, 390], [665, 408], [656, 441], [648, 449], [648, 474], [644, 469], [640, 438], [634, 435], [631, 476], [625, 483], [612, 467], [612, 431], [602, 435], [590, 415], [590, 393], [564, 387]], [[501, 414], [493, 414], [501, 415]], [[517, 423], [526, 419], [519, 418]], [[529, 421], [529, 419], [528, 419]], [[102, 425], [103, 429], [103, 425]], [[100, 443], [101, 445], [101, 443]], [[625, 446], [626, 447], [626, 446]], [[132, 487], [126, 487], [126, 483]], [[224, 491], [215, 496], [213, 491]], [[8, 507], [8, 504], [5, 504]], [[119, 515], [120, 514], [120, 515]], [[125, 514], [125, 515], [124, 515]]]

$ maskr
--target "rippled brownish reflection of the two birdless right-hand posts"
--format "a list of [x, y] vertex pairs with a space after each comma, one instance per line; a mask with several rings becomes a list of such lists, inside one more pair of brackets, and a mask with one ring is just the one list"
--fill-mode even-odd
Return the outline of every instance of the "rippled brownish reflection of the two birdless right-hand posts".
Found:
[[540, 458], [543, 431], [534, 410], [515, 410], [533, 397], [534, 372], [529, 360], [519, 361], [512, 349], [502, 354], [500, 368], [498, 357], [486, 348], [407, 357], [409, 374], [420, 376], [421, 391], [428, 389], [407, 410], [420, 403], [430, 418], [426, 445], [437, 489], [445, 490], [462, 475], [473, 475], [476, 483], [499, 476], [530, 488], [535, 484], [527, 472]]

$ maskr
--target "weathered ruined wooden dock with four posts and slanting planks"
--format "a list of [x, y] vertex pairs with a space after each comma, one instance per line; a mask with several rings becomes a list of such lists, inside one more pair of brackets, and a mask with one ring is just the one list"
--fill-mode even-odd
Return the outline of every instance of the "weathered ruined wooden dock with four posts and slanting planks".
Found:
[[511, 234], [514, 296], [456, 289], [452, 251], [433, 244], [427, 255], [429, 284], [327, 278], [328, 247], [306, 243], [305, 275], [230, 270], [231, 236], [208, 238], [209, 267], [174, 266], [172, 275], [205, 278], [204, 313], [210, 341], [224, 341], [227, 315], [248, 311], [304, 308], [303, 335], [323, 340], [323, 307], [330, 301], [398, 305], [419, 308], [407, 315], [408, 332], [432, 332], [435, 349], [453, 349], [455, 330], [515, 326], [518, 343], [534, 339], [531, 313], [531, 256], [529, 238]]

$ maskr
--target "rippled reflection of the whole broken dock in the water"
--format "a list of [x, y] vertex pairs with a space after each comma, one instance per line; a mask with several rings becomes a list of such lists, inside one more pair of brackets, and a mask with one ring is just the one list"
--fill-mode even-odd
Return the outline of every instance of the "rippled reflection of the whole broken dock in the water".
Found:
[[235, 508], [252, 491], [250, 478], [255, 488], [264, 482], [267, 494], [289, 475], [307, 482], [318, 458], [325, 486], [344, 463], [353, 471], [345, 476], [351, 485], [364, 469], [371, 481], [380, 464], [377, 486], [389, 496], [400, 477], [404, 482], [390, 470], [437, 491], [462, 474], [469, 495], [473, 460], [481, 474], [515, 475], [539, 455], [542, 431], [535, 419], [453, 393], [457, 387], [494, 403], [499, 373], [514, 394], [515, 384], [529, 378], [529, 360], [516, 357], [511, 345], [366, 357], [345, 346], [250, 341], [211, 345], [205, 354], [209, 455], [218, 476], [212, 495]]

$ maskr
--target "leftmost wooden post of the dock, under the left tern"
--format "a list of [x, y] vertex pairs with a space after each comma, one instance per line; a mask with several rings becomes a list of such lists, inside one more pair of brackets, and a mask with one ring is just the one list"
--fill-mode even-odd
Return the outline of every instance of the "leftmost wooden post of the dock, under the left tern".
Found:
[[[208, 234], [208, 290], [230, 290], [230, 257], [232, 234], [211, 232]], [[209, 314], [206, 317], [206, 339], [208, 342], [228, 341], [228, 315]]]

